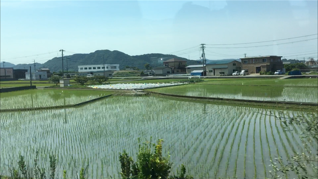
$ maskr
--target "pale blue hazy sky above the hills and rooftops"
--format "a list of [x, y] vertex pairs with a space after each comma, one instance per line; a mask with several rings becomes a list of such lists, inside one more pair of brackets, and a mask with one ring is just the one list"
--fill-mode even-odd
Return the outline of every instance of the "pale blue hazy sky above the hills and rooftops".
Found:
[[[60, 49], [65, 55], [108, 49], [198, 60], [202, 43], [209, 60], [244, 54], [317, 59], [317, 2], [1, 0], [0, 61], [44, 63], [61, 56]], [[223, 45], [249, 42], [261, 43]]]

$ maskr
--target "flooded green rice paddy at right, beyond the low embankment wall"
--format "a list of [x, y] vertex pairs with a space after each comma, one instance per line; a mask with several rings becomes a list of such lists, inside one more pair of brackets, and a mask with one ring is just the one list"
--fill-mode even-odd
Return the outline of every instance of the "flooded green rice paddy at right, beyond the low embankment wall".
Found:
[[197, 83], [167, 88], [149, 89], [161, 93], [173, 93], [185, 96], [220, 97], [251, 100], [318, 102], [317, 88], [291, 88], [278, 86], [210, 85]]

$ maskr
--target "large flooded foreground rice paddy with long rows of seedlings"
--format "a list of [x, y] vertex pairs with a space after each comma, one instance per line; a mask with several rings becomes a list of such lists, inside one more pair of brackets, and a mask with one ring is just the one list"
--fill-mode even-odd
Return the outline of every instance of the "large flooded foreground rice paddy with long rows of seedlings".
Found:
[[[263, 178], [268, 176], [264, 160], [273, 155], [272, 151], [290, 157], [301, 149], [294, 144], [298, 141], [296, 134], [295, 138], [287, 131], [288, 135], [283, 134], [279, 121], [272, 123], [273, 118], [264, 119], [264, 115], [255, 114], [259, 111], [264, 114], [276, 112], [156, 97], [110, 97], [79, 108], [2, 112], [0, 169], [5, 173], [11, 163], [16, 166], [14, 161], [18, 160], [19, 153], [32, 166], [38, 150], [43, 167], [49, 167], [50, 154], [57, 156], [57, 173], [66, 169], [67, 175], [74, 177], [73, 168], [89, 164], [89, 178], [119, 177], [118, 153], [126, 149], [135, 159], [136, 139], [140, 137], [144, 141], [153, 136], [153, 139], [164, 139], [162, 152], [169, 153], [170, 161], [175, 163], [172, 172], [184, 164], [189, 174], [195, 177], [252, 177], [249, 175], [251, 166], [253, 176]], [[265, 120], [269, 120], [270, 128]], [[274, 145], [269, 144], [272, 138]], [[291, 146], [285, 138], [293, 139], [288, 139]], [[262, 145], [260, 152], [255, 149], [259, 144]], [[264, 151], [263, 146], [267, 146]], [[252, 151], [252, 163], [247, 163], [248, 151]], [[256, 159], [258, 154], [261, 160]], [[255, 170], [264, 170], [264, 175]]]

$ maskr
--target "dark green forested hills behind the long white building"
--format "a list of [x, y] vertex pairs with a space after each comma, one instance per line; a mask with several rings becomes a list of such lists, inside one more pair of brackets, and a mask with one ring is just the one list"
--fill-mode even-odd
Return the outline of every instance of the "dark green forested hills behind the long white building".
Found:
[[[114, 50], [97, 50], [89, 54], [73, 54], [69, 56], [64, 56], [64, 70], [66, 70], [66, 58], [68, 70], [78, 71], [79, 65], [96, 65], [103, 64], [103, 54], [105, 64], [119, 64], [120, 69], [125, 69], [126, 66], [138, 67], [140, 69], [145, 68], [145, 64], [149, 63], [151, 67], [162, 66], [162, 61], [168, 60], [170, 58], [178, 58], [187, 61], [189, 64], [194, 64], [196, 61], [188, 60], [185, 58], [177, 57], [175, 55], [167, 54], [144, 54], [130, 56], [128, 54], [122, 53], [120, 51]], [[162, 59], [162, 60], [161, 60]], [[33, 64], [18, 64], [14, 68], [17, 69], [29, 69], [33, 67]], [[36, 68], [49, 68], [52, 72], [62, 70], [62, 57], [55, 57], [43, 64], [36, 63]], [[34, 67], [32, 68], [34, 70]]]

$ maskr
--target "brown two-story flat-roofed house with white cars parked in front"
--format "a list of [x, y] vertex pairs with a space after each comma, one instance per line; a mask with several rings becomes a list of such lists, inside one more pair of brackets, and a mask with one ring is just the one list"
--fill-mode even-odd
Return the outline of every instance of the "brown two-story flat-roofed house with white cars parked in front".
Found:
[[282, 70], [284, 64], [281, 61], [281, 56], [259, 56], [240, 58], [242, 70], [248, 70], [249, 74], [259, 73], [260, 71]]

